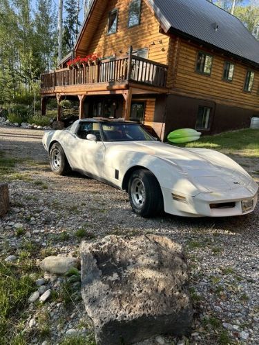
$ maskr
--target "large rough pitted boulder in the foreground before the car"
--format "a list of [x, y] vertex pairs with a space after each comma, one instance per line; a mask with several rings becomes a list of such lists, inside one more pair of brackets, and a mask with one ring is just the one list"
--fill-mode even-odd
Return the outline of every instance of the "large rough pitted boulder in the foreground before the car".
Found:
[[82, 297], [97, 345], [133, 344], [189, 332], [186, 259], [166, 237], [111, 235], [83, 242]]

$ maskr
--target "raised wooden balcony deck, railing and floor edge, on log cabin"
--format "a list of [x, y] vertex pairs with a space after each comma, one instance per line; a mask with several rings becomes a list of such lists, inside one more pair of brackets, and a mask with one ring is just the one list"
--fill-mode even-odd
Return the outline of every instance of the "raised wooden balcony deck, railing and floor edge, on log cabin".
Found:
[[96, 66], [64, 68], [41, 75], [41, 95], [81, 93], [83, 90], [125, 89], [130, 82], [154, 88], [166, 88], [168, 66], [130, 55], [102, 60]]

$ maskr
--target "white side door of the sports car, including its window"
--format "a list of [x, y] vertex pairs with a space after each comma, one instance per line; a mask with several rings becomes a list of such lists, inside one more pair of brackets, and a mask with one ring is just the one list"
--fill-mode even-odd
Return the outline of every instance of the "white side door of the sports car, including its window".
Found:
[[[101, 139], [99, 124], [81, 121], [75, 134], [77, 136], [73, 155], [75, 169], [94, 177], [103, 177], [105, 146]], [[88, 134], [95, 135], [97, 140], [88, 140], [86, 138]]]

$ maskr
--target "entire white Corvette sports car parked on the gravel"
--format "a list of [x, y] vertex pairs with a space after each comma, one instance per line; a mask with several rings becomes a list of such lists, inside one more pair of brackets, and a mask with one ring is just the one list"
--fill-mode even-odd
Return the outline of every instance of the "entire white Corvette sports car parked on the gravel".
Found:
[[220, 152], [156, 141], [140, 124], [82, 119], [45, 132], [44, 148], [57, 175], [70, 169], [126, 190], [135, 213], [163, 209], [186, 217], [234, 216], [253, 211], [258, 185]]

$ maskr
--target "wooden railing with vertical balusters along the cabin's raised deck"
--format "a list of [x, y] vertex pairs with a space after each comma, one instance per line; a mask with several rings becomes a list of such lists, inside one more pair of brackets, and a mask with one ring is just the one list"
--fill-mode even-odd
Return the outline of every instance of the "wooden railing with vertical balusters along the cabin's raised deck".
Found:
[[41, 75], [41, 89], [89, 83], [137, 81], [151, 86], [166, 86], [168, 66], [130, 55], [122, 59], [102, 60], [95, 66], [64, 68]]

